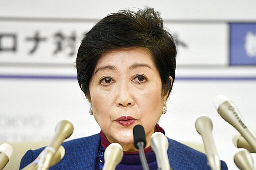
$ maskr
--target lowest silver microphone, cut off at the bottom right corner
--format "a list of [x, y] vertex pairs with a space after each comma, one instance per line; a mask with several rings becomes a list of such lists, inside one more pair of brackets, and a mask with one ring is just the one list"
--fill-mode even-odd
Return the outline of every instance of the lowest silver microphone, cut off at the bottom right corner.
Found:
[[240, 148], [234, 155], [234, 163], [240, 170], [256, 170], [251, 154], [244, 148]]

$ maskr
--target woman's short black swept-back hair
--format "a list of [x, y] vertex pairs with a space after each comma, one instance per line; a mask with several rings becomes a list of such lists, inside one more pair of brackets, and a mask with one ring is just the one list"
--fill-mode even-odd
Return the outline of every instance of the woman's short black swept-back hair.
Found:
[[[142, 47], [150, 51], [162, 82], [162, 94], [168, 96], [175, 80], [176, 46], [163, 27], [160, 13], [146, 7], [137, 12], [120, 10], [100, 20], [81, 41], [76, 58], [77, 80], [85, 96], [89, 82], [102, 54], [114, 49]], [[169, 76], [172, 77], [172, 84]]]

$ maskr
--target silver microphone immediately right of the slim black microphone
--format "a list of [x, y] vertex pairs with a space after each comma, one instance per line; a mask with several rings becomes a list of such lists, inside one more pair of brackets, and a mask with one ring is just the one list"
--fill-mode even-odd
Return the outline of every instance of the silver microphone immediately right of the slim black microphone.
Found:
[[159, 170], [171, 170], [167, 154], [169, 142], [167, 137], [161, 132], [155, 132], [150, 140], [151, 148], [156, 155]]

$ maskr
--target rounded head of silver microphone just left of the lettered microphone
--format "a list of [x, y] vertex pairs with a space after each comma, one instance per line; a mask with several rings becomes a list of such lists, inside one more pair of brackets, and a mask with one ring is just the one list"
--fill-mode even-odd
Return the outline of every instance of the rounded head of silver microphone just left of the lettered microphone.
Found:
[[213, 124], [211, 119], [208, 116], [200, 116], [195, 121], [195, 129], [200, 135], [202, 135], [206, 130], [210, 130], [212, 132]]

